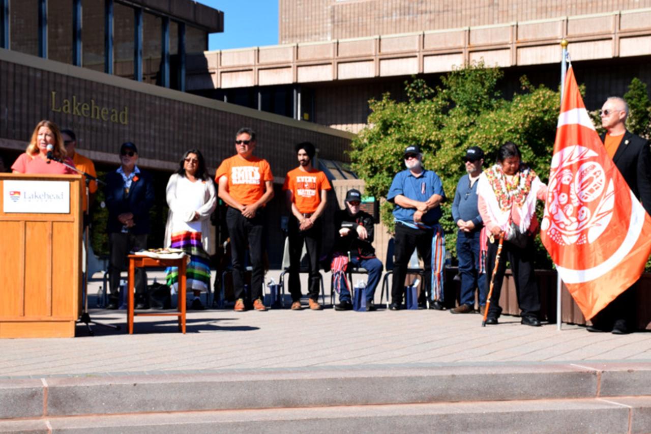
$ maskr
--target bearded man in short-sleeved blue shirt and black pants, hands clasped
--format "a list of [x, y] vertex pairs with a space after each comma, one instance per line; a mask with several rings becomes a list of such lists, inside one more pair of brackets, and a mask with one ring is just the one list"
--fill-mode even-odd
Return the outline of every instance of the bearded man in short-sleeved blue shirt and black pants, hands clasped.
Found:
[[[439, 205], [445, 200], [443, 184], [434, 171], [422, 167], [421, 149], [408, 146], [404, 152], [406, 170], [398, 172], [391, 182], [387, 200], [395, 205], [395, 261], [390, 310], [402, 306], [402, 294], [409, 258], [414, 248], [425, 265], [425, 290], [432, 292], [432, 237], [442, 212]], [[438, 302], [430, 307], [442, 309]]]

